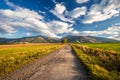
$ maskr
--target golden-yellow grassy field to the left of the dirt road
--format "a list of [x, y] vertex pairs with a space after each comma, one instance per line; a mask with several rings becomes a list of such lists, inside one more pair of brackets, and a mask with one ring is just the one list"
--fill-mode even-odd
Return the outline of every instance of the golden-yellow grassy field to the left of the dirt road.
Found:
[[63, 46], [62, 44], [0, 45], [0, 76], [6, 75]]

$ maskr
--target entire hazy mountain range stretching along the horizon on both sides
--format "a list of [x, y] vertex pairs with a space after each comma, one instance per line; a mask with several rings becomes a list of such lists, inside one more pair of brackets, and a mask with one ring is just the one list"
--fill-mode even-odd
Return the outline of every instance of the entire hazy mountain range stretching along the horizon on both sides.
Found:
[[[101, 38], [101, 37], [93, 37], [93, 36], [67, 36], [68, 42], [90, 42], [90, 43], [98, 43], [98, 42], [119, 42], [114, 39]], [[63, 39], [63, 38], [62, 38]], [[23, 37], [23, 38], [0, 38], [0, 43], [56, 43], [60, 42], [62, 39], [55, 39], [51, 37], [45, 36], [31, 36], [31, 37]]]

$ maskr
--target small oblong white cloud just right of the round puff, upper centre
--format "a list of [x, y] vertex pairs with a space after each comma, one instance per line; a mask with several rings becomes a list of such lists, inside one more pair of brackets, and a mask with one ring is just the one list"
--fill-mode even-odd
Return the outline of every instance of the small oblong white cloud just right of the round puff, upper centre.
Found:
[[78, 18], [81, 15], [85, 15], [86, 14], [86, 7], [77, 7], [72, 11], [66, 11], [66, 15], [72, 18]]

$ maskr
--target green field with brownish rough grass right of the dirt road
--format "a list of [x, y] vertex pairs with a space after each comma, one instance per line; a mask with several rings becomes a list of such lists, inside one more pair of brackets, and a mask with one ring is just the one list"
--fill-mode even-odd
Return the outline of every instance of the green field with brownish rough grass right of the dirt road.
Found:
[[72, 44], [91, 80], [120, 80], [120, 43]]

